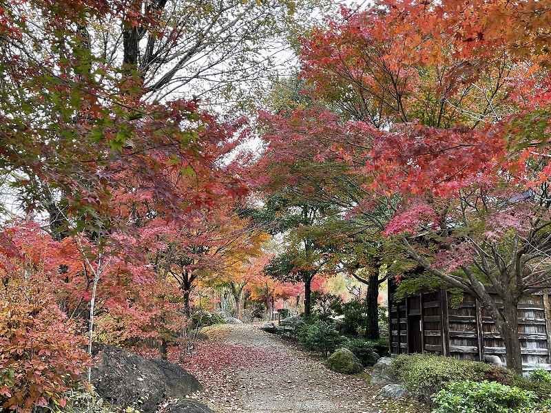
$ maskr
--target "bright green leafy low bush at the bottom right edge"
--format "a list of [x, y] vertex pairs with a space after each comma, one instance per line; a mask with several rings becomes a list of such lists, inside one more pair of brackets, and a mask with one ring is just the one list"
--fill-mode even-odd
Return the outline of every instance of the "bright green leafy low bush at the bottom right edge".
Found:
[[530, 413], [536, 395], [495, 381], [458, 381], [440, 390], [433, 413]]

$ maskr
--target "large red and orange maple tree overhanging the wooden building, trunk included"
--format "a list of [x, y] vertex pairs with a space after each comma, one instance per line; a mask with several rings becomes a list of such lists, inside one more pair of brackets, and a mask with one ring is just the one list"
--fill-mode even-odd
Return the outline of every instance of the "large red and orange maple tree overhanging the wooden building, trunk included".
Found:
[[264, 161], [279, 182], [329, 194], [427, 271], [475, 295], [517, 371], [517, 304], [550, 280], [548, 14], [543, 3], [499, 1], [344, 10], [303, 41], [301, 56], [302, 76], [338, 114], [266, 116], [264, 132], [273, 153], [282, 151]]

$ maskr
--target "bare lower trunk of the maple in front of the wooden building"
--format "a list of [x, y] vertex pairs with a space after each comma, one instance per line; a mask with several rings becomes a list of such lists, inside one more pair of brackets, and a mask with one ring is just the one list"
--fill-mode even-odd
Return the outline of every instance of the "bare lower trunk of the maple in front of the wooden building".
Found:
[[507, 368], [522, 374], [522, 355], [519, 340], [519, 320], [517, 317], [517, 303], [508, 297], [503, 297], [504, 322], [496, 323], [503, 339]]

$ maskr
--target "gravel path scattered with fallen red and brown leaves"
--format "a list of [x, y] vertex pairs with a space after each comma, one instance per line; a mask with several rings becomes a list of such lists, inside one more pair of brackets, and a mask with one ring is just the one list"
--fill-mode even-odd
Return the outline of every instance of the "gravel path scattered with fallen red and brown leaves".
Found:
[[198, 399], [216, 412], [386, 411], [365, 375], [332, 372], [255, 326], [225, 324], [207, 335], [185, 367], [205, 385]]

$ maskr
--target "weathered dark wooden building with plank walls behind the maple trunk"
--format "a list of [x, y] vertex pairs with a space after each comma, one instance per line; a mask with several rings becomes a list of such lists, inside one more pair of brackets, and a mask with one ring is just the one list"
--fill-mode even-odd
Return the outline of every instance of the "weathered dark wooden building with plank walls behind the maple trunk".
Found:
[[[452, 296], [444, 288], [402, 301], [395, 301], [394, 291], [395, 286], [389, 283], [391, 355], [437, 352], [473, 361], [484, 361], [486, 356], [495, 355], [506, 363], [503, 340], [488, 312], [472, 295], [465, 293], [459, 306], [453, 308]], [[550, 300], [551, 293], [541, 293], [519, 304], [524, 372], [536, 366], [551, 370]]]

